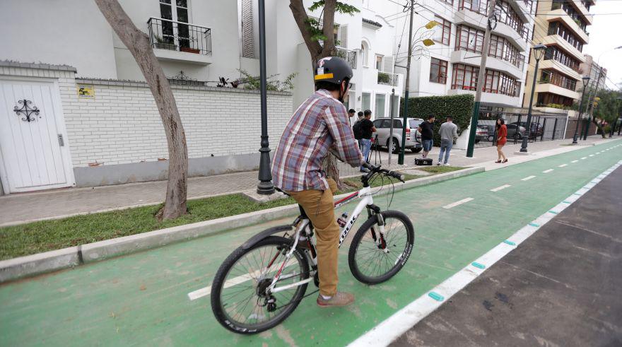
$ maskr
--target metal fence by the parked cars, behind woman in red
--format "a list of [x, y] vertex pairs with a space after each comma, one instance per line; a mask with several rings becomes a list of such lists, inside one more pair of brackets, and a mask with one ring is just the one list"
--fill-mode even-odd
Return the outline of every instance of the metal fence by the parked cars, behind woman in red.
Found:
[[[529, 142], [563, 139], [566, 117], [561, 114], [532, 113]], [[481, 112], [477, 122], [476, 147], [496, 146], [497, 119], [504, 119], [507, 127], [507, 143], [520, 143], [527, 136], [527, 114], [508, 112]]]

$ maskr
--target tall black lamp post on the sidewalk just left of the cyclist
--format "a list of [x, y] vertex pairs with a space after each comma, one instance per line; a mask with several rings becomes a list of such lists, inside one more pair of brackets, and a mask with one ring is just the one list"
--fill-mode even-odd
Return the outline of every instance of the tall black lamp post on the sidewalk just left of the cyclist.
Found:
[[266, 104], [266, 4], [259, 0], [259, 80], [262, 99], [262, 148], [259, 148], [259, 184], [257, 193], [274, 193], [272, 172], [270, 170], [270, 144], [268, 142], [268, 106]]

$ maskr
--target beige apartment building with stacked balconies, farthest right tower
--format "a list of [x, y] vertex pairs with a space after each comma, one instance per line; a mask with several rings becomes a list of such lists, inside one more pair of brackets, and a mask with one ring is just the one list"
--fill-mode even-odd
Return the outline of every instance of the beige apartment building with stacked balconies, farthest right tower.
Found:
[[[589, 42], [587, 26], [592, 24], [593, 16], [589, 9], [592, 0], [553, 0], [539, 1], [534, 27], [534, 43], [546, 45], [546, 52], [539, 63], [534, 106], [537, 110], [564, 112], [580, 98], [577, 91], [582, 88], [581, 64], [586, 59], [583, 46]], [[527, 89], [530, 95], [534, 78], [535, 57], [529, 61]], [[529, 98], [523, 105], [529, 106]], [[575, 112], [570, 112], [574, 115]]]

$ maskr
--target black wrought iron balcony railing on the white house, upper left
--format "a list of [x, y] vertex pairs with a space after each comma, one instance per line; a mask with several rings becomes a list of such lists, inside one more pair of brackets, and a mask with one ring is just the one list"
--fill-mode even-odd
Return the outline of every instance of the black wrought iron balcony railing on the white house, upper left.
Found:
[[151, 47], [211, 55], [211, 29], [163, 18], [147, 20]]

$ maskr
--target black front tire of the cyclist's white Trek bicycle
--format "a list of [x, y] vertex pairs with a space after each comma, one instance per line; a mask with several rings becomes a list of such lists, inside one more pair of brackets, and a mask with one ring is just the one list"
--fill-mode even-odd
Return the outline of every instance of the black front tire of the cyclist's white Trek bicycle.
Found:
[[401, 220], [401, 222], [406, 225], [406, 235], [409, 247], [407, 247], [406, 251], [404, 252], [404, 258], [401, 259], [399, 263], [393, 266], [392, 269], [384, 275], [378, 276], [377, 278], [365, 276], [358, 269], [354, 256], [356, 255], [356, 250], [358, 249], [358, 244], [360, 243], [360, 240], [363, 239], [363, 236], [369, 230], [369, 228], [371, 228], [371, 226], [376, 223], [376, 217], [372, 216], [371, 218], [368, 218], [368, 220], [365, 220], [365, 223], [363, 223], [363, 225], [361, 225], [360, 228], [358, 228], [358, 230], [356, 231], [356, 234], [354, 235], [352, 243], [350, 245], [350, 250], [348, 252], [348, 265], [350, 266], [350, 272], [352, 273], [352, 276], [354, 276], [354, 278], [356, 278], [358, 281], [365, 284], [382, 283], [388, 281], [390, 278], [395, 276], [401, 270], [401, 268], [404, 267], [404, 264], [406, 264], [406, 261], [408, 261], [409, 257], [411, 256], [413, 245], [415, 242], [415, 230], [413, 227], [413, 223], [411, 222], [410, 218], [406, 216], [406, 214], [400, 211], [382, 211], [381, 214], [382, 217], [385, 217], [385, 219], [396, 218]]

